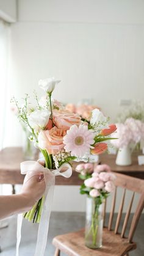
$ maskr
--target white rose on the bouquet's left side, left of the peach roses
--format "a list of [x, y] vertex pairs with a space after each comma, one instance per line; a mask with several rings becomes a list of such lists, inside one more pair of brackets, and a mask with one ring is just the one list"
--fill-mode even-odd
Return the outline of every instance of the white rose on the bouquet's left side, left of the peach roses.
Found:
[[51, 112], [48, 110], [37, 110], [31, 112], [28, 117], [29, 125], [34, 129], [35, 132], [45, 128], [49, 121]]

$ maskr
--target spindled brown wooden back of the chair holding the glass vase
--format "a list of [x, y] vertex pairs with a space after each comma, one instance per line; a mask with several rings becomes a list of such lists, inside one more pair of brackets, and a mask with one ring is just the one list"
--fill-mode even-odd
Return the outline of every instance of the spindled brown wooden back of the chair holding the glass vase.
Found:
[[[118, 174], [118, 173], [115, 173], [115, 175], [117, 178], [115, 180], [115, 191], [113, 192], [112, 205], [111, 205], [110, 214], [109, 214], [109, 221], [107, 224], [108, 230], [112, 230], [113, 215], [115, 213], [115, 205], [117, 202], [118, 187], [122, 188], [123, 192], [121, 195], [121, 200], [120, 202], [118, 202], [119, 208], [118, 208], [117, 220], [115, 222], [115, 229], [114, 229], [115, 234], [119, 233], [118, 229], [120, 227], [124, 203], [127, 203], [125, 202], [126, 191], [127, 190], [132, 191], [131, 199], [128, 202], [128, 205], [126, 206], [127, 210], [124, 216], [123, 227], [121, 230], [121, 238], [124, 238], [124, 234], [126, 232], [126, 229], [128, 228], [128, 221], [129, 221], [129, 216], [131, 214], [132, 203], [134, 202], [135, 193], [140, 194], [139, 202], [137, 203], [137, 207], [134, 212], [134, 216], [132, 218], [129, 233], [128, 233], [128, 241], [129, 243], [131, 243], [132, 238], [134, 236], [135, 229], [139, 222], [140, 215], [142, 214], [143, 207], [144, 207], [144, 180], [140, 180], [139, 178], [134, 178], [127, 175]], [[107, 203], [107, 200], [104, 203], [104, 221], [106, 216], [106, 203]]]

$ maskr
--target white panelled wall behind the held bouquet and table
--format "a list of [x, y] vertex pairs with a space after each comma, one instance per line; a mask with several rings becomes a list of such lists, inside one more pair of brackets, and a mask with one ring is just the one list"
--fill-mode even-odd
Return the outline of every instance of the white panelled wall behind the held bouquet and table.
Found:
[[[9, 97], [33, 89], [39, 93], [38, 79], [55, 76], [62, 79], [54, 92], [57, 100], [92, 98], [112, 120], [121, 99], [144, 100], [143, 1], [19, 0], [18, 7]], [[5, 145], [21, 145], [20, 126], [10, 114], [9, 123]], [[56, 188], [54, 209], [60, 207], [60, 194], [72, 202], [76, 193], [76, 187]], [[84, 205], [81, 197], [74, 210]], [[70, 210], [67, 203], [62, 208]]]

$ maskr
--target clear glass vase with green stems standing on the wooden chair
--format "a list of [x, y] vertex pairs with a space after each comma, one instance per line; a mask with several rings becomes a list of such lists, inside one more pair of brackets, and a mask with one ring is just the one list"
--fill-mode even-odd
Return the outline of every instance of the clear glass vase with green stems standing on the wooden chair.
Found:
[[87, 197], [85, 219], [85, 246], [96, 249], [102, 246], [103, 203], [97, 198]]

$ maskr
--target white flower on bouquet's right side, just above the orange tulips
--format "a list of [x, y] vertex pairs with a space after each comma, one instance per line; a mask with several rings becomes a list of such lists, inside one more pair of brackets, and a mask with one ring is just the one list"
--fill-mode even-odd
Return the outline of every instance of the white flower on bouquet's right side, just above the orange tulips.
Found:
[[90, 124], [97, 126], [99, 130], [106, 128], [107, 117], [104, 117], [103, 113], [99, 111], [99, 109], [93, 109]]

